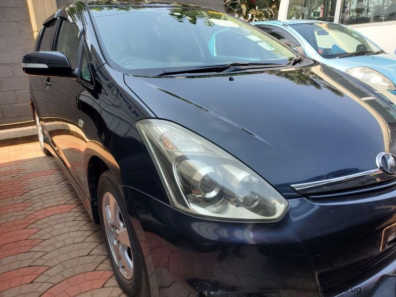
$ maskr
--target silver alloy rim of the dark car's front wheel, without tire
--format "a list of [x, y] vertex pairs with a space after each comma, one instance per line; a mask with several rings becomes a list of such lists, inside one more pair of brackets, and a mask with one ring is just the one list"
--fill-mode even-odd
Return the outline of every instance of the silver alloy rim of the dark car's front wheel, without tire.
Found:
[[122, 275], [130, 280], [133, 277], [134, 263], [131, 241], [125, 227], [120, 207], [111, 193], [106, 192], [102, 199], [105, 238], [111, 249], [111, 256]]

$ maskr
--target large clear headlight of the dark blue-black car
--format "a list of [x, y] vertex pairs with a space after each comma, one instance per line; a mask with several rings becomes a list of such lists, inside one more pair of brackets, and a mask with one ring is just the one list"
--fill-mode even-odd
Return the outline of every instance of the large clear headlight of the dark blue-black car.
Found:
[[241, 161], [165, 120], [137, 122], [174, 207], [230, 220], [279, 220], [288, 201]]

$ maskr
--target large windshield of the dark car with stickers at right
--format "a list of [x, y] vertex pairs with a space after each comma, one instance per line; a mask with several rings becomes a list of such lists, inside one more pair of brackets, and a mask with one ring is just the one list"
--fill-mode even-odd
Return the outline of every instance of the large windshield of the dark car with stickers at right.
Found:
[[127, 73], [234, 62], [285, 65], [296, 56], [260, 30], [218, 11], [142, 6], [90, 11], [107, 59]]

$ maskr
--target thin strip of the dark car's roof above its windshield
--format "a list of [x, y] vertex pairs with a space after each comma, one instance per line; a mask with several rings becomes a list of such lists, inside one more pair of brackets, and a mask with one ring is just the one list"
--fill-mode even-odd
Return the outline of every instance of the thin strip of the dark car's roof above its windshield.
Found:
[[171, 7], [197, 7], [204, 8], [198, 5], [192, 5], [181, 2], [171, 1], [155, 1], [155, 0], [84, 0], [87, 6], [171, 6]]

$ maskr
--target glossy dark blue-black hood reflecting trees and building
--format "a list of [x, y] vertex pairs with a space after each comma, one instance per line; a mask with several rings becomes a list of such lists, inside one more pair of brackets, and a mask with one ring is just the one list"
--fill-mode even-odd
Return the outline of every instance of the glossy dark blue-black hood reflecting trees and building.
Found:
[[285, 196], [297, 195], [291, 184], [371, 170], [379, 152], [396, 153], [395, 97], [326, 65], [124, 79], [157, 117], [229, 151]]

